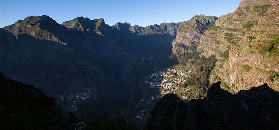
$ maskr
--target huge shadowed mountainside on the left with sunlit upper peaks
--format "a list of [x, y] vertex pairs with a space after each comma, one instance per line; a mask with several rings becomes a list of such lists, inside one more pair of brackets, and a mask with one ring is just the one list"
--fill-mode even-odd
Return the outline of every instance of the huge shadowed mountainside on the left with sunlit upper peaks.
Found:
[[114, 30], [103, 19], [78, 17], [63, 25], [37, 16], [1, 28], [1, 71], [50, 96], [67, 97], [91, 89], [91, 98], [78, 99], [80, 109], [74, 110], [70, 101], [58, 101], [78, 117], [90, 119], [118, 113], [121, 108], [115, 97], [168, 58], [174, 39], [170, 34]]

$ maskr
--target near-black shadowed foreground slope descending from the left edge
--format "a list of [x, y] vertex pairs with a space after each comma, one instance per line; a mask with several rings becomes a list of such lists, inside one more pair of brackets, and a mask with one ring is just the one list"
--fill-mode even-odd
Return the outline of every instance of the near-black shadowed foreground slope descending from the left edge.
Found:
[[1, 72], [1, 129], [74, 129], [74, 113], [57, 106], [38, 88], [6, 78]]

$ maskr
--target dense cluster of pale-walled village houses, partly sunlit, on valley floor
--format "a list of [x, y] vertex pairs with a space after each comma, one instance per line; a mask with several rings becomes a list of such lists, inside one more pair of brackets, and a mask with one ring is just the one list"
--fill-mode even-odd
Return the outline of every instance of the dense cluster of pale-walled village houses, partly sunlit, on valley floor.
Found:
[[[182, 83], [185, 82], [185, 77], [191, 77], [192, 70], [189, 71], [182, 71], [182, 70], [176, 70], [174, 68], [165, 68], [163, 71], [152, 73], [149, 76], [149, 80], [144, 80], [144, 83], [148, 84], [150, 88], [163, 88], [160, 91], [160, 95], [152, 95], [150, 96], [149, 100], [146, 101], [147, 104], [151, 104], [151, 102], [155, 98], [160, 98], [162, 95], [165, 95], [167, 93], [174, 93], [175, 91], [179, 89]], [[165, 91], [164, 91], [165, 90]], [[182, 96], [183, 99], [187, 99], [187, 97], [184, 95]], [[143, 100], [141, 100], [143, 102]], [[149, 111], [146, 109], [143, 109], [139, 112], [137, 118], [138, 119], [145, 119], [145, 116], [149, 114]]]

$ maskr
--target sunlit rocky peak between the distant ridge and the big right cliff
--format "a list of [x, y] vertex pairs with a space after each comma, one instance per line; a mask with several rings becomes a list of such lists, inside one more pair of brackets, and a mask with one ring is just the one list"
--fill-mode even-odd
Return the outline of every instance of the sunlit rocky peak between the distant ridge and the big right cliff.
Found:
[[177, 29], [176, 38], [172, 42], [173, 55], [178, 60], [187, 55], [189, 51], [187, 47], [191, 45], [197, 46], [200, 42], [201, 35], [205, 30], [214, 26], [217, 18], [216, 16], [204, 16], [200, 14], [181, 24]]

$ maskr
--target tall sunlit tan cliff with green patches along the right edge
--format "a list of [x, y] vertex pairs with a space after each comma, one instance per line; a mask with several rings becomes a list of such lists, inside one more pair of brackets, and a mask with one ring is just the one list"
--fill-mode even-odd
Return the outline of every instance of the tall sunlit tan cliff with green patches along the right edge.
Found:
[[236, 92], [263, 83], [279, 90], [278, 4], [243, 0], [201, 35], [197, 51], [218, 58], [211, 83], [220, 77]]

